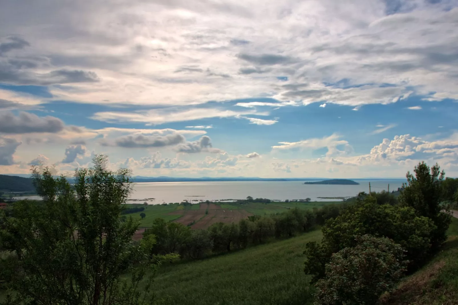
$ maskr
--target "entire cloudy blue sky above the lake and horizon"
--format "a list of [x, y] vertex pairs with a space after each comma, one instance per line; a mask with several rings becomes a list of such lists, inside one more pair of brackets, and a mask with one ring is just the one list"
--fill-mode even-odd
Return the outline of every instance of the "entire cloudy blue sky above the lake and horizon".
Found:
[[0, 6], [0, 174], [458, 176], [458, 0]]

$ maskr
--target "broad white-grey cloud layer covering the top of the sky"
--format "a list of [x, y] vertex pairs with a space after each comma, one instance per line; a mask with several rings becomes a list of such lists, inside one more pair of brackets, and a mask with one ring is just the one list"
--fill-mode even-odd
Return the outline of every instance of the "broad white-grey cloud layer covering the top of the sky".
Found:
[[[456, 5], [397, 3], [49, 0], [24, 11], [10, 1], [0, 28], [20, 36], [1, 38], [1, 81], [50, 85], [48, 100], [106, 104], [277, 97], [354, 107], [413, 93], [458, 98]], [[19, 42], [13, 49], [11, 39]], [[70, 85], [54, 86], [62, 83]]]

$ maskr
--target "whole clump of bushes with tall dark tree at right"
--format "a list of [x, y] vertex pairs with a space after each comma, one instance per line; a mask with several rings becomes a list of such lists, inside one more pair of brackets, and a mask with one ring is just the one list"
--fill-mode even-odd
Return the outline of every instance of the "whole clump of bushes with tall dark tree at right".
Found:
[[419, 163], [398, 198], [360, 193], [325, 222], [321, 244], [309, 242], [304, 251], [316, 304], [376, 304], [439, 251], [451, 222], [442, 210], [457, 192], [456, 180], [444, 175], [437, 164]]

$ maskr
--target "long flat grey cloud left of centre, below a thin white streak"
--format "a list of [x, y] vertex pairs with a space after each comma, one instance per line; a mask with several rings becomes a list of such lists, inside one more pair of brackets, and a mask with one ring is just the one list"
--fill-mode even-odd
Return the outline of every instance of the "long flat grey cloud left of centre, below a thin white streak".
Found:
[[118, 146], [127, 148], [165, 147], [185, 142], [185, 137], [180, 134], [169, 134], [166, 136], [121, 136], [113, 142], [103, 141], [103, 146]]

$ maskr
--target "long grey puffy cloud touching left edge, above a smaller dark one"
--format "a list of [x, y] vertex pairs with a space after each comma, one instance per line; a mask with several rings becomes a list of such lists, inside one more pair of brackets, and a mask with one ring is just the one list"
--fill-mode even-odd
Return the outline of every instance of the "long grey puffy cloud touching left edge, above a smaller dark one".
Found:
[[63, 129], [64, 122], [53, 116], [38, 117], [38, 115], [28, 112], [21, 112], [18, 116], [11, 112], [0, 113], [0, 132], [3, 133], [56, 133]]

